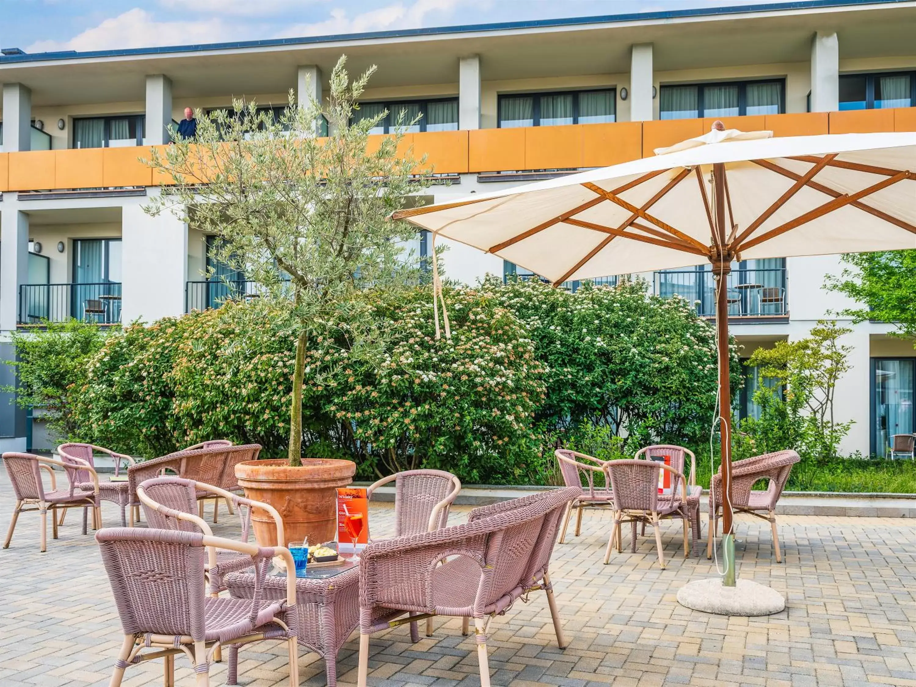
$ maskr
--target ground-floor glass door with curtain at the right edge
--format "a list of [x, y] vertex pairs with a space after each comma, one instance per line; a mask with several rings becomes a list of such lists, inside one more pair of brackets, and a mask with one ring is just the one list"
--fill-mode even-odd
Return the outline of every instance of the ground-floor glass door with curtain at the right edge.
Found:
[[871, 359], [871, 451], [890, 454], [894, 434], [911, 434], [913, 423], [913, 372], [916, 358]]

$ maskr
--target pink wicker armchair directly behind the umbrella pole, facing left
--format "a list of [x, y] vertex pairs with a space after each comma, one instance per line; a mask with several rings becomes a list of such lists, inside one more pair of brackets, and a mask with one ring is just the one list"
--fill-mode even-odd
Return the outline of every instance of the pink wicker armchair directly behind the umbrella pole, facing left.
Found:
[[[752, 458], [732, 463], [732, 510], [735, 513], [747, 513], [767, 520], [773, 530], [773, 550], [776, 551], [776, 562], [782, 562], [780, 553], [780, 536], [776, 531], [776, 504], [782, 496], [782, 490], [789, 481], [792, 465], [798, 463], [799, 454], [794, 451], [777, 451], [764, 453]], [[751, 491], [760, 480], [768, 480], [766, 491]], [[713, 557], [713, 540], [719, 529], [719, 511], [722, 508], [722, 468], [713, 475], [713, 484], [709, 490], [709, 541], [706, 544], [706, 558]], [[758, 511], [767, 511], [761, 515]]]

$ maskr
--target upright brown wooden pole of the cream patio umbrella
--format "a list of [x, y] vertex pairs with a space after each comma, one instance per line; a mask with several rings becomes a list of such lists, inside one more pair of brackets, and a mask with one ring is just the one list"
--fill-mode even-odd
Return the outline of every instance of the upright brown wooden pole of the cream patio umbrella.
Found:
[[[715, 216], [714, 250], [711, 260], [716, 280], [715, 326], [718, 330], [719, 430], [722, 444], [722, 557], [727, 587], [735, 586], [735, 534], [732, 522], [732, 397], [728, 351], [728, 275], [734, 256], [725, 246], [725, 165], [713, 165]], [[713, 536], [714, 532], [710, 532]]]

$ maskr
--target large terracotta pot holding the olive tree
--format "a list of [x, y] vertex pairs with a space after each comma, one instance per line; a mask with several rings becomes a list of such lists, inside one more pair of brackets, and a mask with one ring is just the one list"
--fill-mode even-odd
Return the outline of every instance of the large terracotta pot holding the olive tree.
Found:
[[261, 546], [286, 546], [308, 536], [312, 544], [337, 537], [337, 491], [353, 482], [356, 463], [324, 458], [302, 460], [289, 467], [286, 460], [245, 461], [235, 466], [245, 496], [277, 508], [283, 518], [284, 538], [277, 541], [273, 518], [255, 510], [252, 521]]

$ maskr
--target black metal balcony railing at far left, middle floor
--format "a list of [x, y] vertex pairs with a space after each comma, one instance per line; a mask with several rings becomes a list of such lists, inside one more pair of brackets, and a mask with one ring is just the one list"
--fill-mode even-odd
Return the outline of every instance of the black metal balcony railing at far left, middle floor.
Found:
[[121, 283], [23, 284], [19, 287], [19, 324], [121, 322]]

